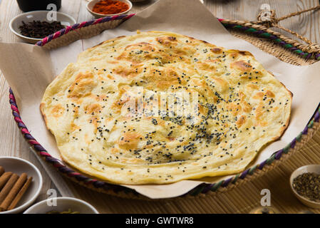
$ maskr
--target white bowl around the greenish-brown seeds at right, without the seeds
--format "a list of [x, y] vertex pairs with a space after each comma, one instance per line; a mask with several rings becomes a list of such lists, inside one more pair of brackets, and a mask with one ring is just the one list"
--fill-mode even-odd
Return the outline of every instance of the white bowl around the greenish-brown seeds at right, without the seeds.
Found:
[[320, 165], [304, 165], [294, 170], [294, 172], [292, 172], [290, 177], [291, 190], [292, 192], [294, 192], [294, 195], [306, 206], [312, 207], [312, 208], [320, 208], [320, 202], [314, 202], [309, 199], [306, 199], [305, 197], [302, 197], [301, 195], [298, 194], [298, 192], [296, 192], [296, 190], [294, 190], [294, 187], [292, 186], [292, 183], [294, 182], [294, 178], [306, 172], [314, 172], [320, 175]]

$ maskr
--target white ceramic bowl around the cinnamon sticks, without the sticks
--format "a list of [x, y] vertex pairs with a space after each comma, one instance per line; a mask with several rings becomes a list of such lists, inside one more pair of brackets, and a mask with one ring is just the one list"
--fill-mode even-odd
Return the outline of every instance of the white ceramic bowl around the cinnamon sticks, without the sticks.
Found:
[[36, 200], [41, 188], [42, 188], [42, 176], [38, 168], [27, 160], [23, 160], [19, 157], [0, 157], [0, 165], [4, 167], [5, 172], [13, 172], [17, 175], [21, 175], [26, 172], [28, 177], [32, 177], [31, 185], [24, 193], [24, 196], [20, 199], [16, 208], [6, 212], [0, 212], [0, 214], [15, 214], [23, 212], [27, 207]]

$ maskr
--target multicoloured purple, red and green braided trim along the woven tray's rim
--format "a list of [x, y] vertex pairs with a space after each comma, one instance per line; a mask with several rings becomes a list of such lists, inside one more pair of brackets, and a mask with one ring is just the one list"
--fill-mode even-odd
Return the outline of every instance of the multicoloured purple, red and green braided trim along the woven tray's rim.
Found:
[[[61, 31], [58, 31], [56, 33], [53, 33], [52, 35], [43, 38], [42, 41], [39, 41], [38, 43], [36, 43], [36, 45], [38, 46], [43, 46], [46, 43], [52, 41], [55, 38], [58, 38], [59, 36], [63, 36], [63, 34], [68, 33], [69, 31], [78, 29], [78, 28], [82, 28], [82, 27], [86, 27], [86, 26], [90, 26], [93, 24], [99, 24], [99, 23], [103, 23], [106, 21], [113, 21], [113, 20], [119, 20], [119, 19], [130, 19], [130, 17], [134, 16], [134, 14], [130, 14], [130, 15], [120, 15], [120, 16], [113, 16], [113, 17], [105, 17], [102, 19], [97, 19], [97, 20], [93, 20], [93, 21], [85, 21], [81, 24], [75, 24], [73, 26], [68, 26], [67, 28], [62, 29]], [[219, 19], [222, 24], [223, 24], [223, 19]], [[230, 25], [230, 24], [226, 24], [224, 25], [226, 27], [231, 27], [234, 28], [234, 26], [237, 25]], [[242, 26], [241, 26], [242, 27]], [[238, 27], [236, 27], [238, 28]], [[242, 27], [241, 29], [243, 29], [244, 31], [247, 31], [250, 28], [245, 28]], [[249, 30], [249, 32], [251, 33], [255, 33], [258, 34], [259, 36], [265, 36], [267, 38], [271, 38], [273, 40], [276, 40], [277, 38], [268, 36], [267, 34], [262, 35], [264, 33], [264, 31], [254, 31], [254, 30]], [[281, 42], [280, 42], [281, 43]], [[287, 47], [287, 46], [286, 46]], [[288, 47], [289, 48], [289, 47]], [[293, 49], [291, 49], [293, 50]], [[296, 52], [298, 53], [298, 52]], [[305, 57], [305, 54], [300, 54], [301, 56]], [[309, 58], [310, 56], [306, 56], [306, 58]], [[317, 58], [320, 58], [320, 56], [318, 56]], [[123, 187], [120, 185], [113, 185], [107, 182], [103, 182], [100, 180], [96, 180], [96, 179], [92, 179], [90, 177], [87, 177], [85, 175], [82, 175], [79, 172], [76, 172], [74, 170], [72, 170], [69, 167], [66, 167], [66, 165], [63, 165], [63, 163], [56, 159], [55, 157], [52, 157], [47, 151], [46, 149], [44, 149], [39, 142], [36, 141], [35, 138], [32, 137], [32, 135], [29, 133], [28, 128], [26, 128], [26, 125], [24, 125], [24, 122], [21, 120], [21, 116], [19, 114], [19, 109], [18, 106], [16, 104], [16, 99], [14, 98], [14, 93], [11, 90], [11, 88], [9, 89], [9, 102], [11, 105], [11, 110], [12, 110], [12, 115], [14, 115], [14, 120], [16, 121], [19, 129], [21, 130], [21, 133], [24, 135], [24, 138], [29, 142], [29, 144], [31, 146], [34, 147], [34, 150], [36, 150], [39, 155], [41, 155], [41, 157], [44, 157], [44, 159], [46, 160], [46, 162], [51, 163], [54, 167], [56, 167], [56, 169], [59, 172], [62, 172], [64, 175], [68, 175], [68, 177], [73, 177], [75, 178], [78, 182], [83, 182], [83, 184], [85, 185], [92, 185], [93, 187], [96, 187], [97, 189], [103, 189], [106, 191], [110, 191], [112, 190], [113, 192], [117, 193], [117, 192], [125, 192], [125, 193], [133, 193], [134, 195], [139, 195], [138, 192], [135, 192], [135, 190], [131, 190], [127, 187]], [[274, 160], [279, 160], [283, 154], [287, 154], [289, 152], [290, 148], [294, 148], [296, 145], [296, 142], [300, 142], [301, 141], [301, 137], [302, 135], [307, 135], [308, 134], [308, 130], [309, 128], [312, 128], [314, 126], [315, 122], [319, 122], [320, 120], [320, 106], [318, 106], [316, 113], [314, 114], [314, 117], [310, 120], [310, 122], [308, 123], [308, 125], [306, 125], [306, 127], [304, 128], [304, 130], [296, 137], [294, 138], [294, 140], [292, 140], [289, 145], [287, 145], [286, 147], [284, 147], [282, 150], [278, 150], [277, 152], [274, 152], [272, 154], [271, 157], [269, 157], [267, 160], [265, 160], [264, 162], [258, 164], [258, 165], [254, 165], [254, 167], [250, 167], [247, 170], [244, 170], [242, 173], [239, 173], [237, 175], [234, 175], [234, 177], [230, 177], [226, 180], [222, 180], [220, 182], [216, 182], [216, 183], [212, 183], [212, 184], [201, 184], [198, 185], [197, 187], [195, 187], [193, 190], [191, 190], [190, 192], [187, 192], [185, 195], [192, 195], [192, 196], [196, 196], [201, 194], [205, 194], [207, 192], [215, 192], [217, 191], [220, 187], [227, 187], [228, 185], [231, 184], [235, 184], [237, 182], [237, 180], [239, 179], [244, 179], [245, 177], [247, 177], [247, 175], [253, 175], [255, 172], [257, 172], [257, 170], [262, 170], [263, 167], [272, 164], [272, 162], [274, 162]]]

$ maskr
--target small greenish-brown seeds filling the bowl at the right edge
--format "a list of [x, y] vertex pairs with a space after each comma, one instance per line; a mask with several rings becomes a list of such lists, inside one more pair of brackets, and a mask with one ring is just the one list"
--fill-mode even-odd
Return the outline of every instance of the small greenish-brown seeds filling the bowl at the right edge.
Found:
[[320, 202], [320, 175], [306, 172], [294, 178], [292, 186], [299, 195], [314, 202]]

